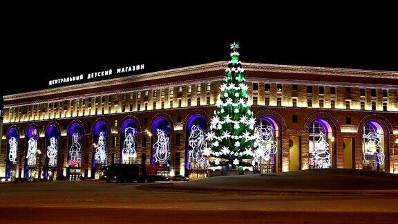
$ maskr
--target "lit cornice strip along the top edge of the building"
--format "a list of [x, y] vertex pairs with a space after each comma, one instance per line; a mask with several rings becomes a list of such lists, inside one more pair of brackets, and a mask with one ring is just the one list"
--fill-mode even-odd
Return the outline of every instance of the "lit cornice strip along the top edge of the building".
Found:
[[[143, 73], [138, 75], [130, 75], [126, 77], [117, 77], [110, 80], [100, 80], [96, 82], [87, 82], [83, 84], [74, 84], [70, 86], [60, 86], [57, 88], [49, 88], [40, 91], [31, 91], [26, 93], [17, 93], [13, 95], [5, 95], [5, 101], [20, 100], [27, 97], [40, 97], [43, 95], [53, 95], [55, 93], [68, 93], [73, 91], [81, 91], [90, 88], [101, 88], [104, 86], [115, 86], [120, 84], [129, 84], [132, 82], [143, 82], [148, 80], [163, 79], [167, 77], [179, 77], [196, 73], [205, 73], [209, 71], [224, 71], [228, 62], [213, 62], [208, 64], [200, 64], [196, 66], [188, 66], [182, 68], [173, 68], [165, 71], [153, 73]], [[330, 75], [338, 77], [366, 77], [366, 78], [388, 78], [398, 79], [398, 72], [395, 71], [372, 71], [349, 68], [325, 68], [311, 66], [290, 66], [277, 64], [259, 64], [259, 63], [243, 63], [246, 71], [272, 72], [272, 73], [295, 73], [307, 75]]]

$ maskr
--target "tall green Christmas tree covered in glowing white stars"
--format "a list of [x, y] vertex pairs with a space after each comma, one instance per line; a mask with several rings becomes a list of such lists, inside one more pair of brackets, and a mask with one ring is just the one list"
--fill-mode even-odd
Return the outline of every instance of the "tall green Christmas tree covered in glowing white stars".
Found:
[[251, 166], [254, 124], [252, 106], [247, 94], [244, 70], [239, 61], [239, 44], [231, 44], [231, 61], [220, 86], [217, 109], [211, 120], [207, 140], [211, 141], [211, 166], [227, 165], [231, 169]]

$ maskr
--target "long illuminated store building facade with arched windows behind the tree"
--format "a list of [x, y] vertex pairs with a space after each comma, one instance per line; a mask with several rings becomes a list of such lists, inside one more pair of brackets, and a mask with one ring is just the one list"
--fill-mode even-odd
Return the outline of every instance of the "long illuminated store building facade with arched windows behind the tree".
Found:
[[[225, 68], [215, 62], [6, 95], [0, 176], [98, 178], [107, 164], [153, 163], [159, 150], [169, 152], [164, 174], [188, 175], [192, 127], [209, 129]], [[257, 125], [277, 149], [261, 171], [398, 173], [397, 72], [243, 68]]]

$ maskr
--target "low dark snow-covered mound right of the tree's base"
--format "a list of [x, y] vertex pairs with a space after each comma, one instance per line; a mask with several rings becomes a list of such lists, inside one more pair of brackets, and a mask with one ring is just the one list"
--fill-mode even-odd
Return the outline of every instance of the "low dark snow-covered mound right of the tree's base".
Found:
[[176, 187], [260, 190], [398, 190], [398, 175], [354, 169], [311, 169], [273, 174], [218, 176], [176, 183]]

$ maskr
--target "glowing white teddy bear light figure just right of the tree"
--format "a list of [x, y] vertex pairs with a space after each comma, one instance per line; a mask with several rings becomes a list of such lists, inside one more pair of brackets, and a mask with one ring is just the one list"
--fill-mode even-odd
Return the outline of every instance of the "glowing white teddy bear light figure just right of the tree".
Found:
[[253, 163], [261, 162], [262, 159], [265, 162], [269, 162], [272, 156], [278, 151], [278, 142], [274, 140], [274, 129], [271, 126], [256, 127], [254, 129], [254, 137], [254, 147], [256, 147], [256, 150], [254, 151]]

